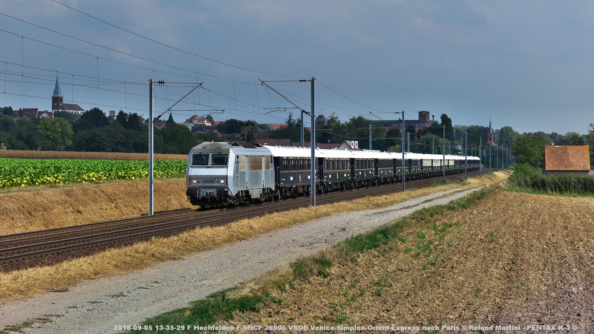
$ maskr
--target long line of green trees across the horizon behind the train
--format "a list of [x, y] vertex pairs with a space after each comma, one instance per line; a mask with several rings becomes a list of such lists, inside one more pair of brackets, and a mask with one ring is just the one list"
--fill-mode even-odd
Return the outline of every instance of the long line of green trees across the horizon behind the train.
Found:
[[[140, 122], [136, 113], [119, 111], [113, 121], [103, 115], [99, 108], [92, 108], [80, 117], [68, 112], [55, 112], [54, 118], [14, 118], [13, 109], [2, 109], [0, 115], [0, 142], [12, 150], [72, 150], [82, 152], [135, 152], [149, 151], [149, 127]], [[208, 121], [214, 124], [212, 116]], [[228, 119], [211, 127], [217, 130], [222, 138], [231, 134], [247, 133], [247, 140], [252, 140], [257, 133], [267, 133], [268, 138], [291, 139], [294, 143], [301, 141], [301, 120], [291, 113], [286, 119], [286, 127], [272, 130], [268, 124], [254, 121], [242, 122]], [[309, 125], [309, 124], [305, 124]], [[369, 125], [371, 125], [371, 149], [388, 152], [402, 152], [402, 132], [399, 128], [386, 128], [377, 121], [364, 116], [353, 116], [341, 121], [330, 116], [316, 126], [316, 143], [340, 144], [344, 140], [357, 140], [360, 149], [369, 149]], [[443, 154], [443, 131], [445, 127], [445, 153], [462, 154], [464, 135], [467, 134], [469, 155], [479, 155], [479, 144], [482, 156], [485, 155], [488, 127], [481, 125], [452, 125], [447, 114], [441, 114], [438, 121], [429, 127], [415, 128], [409, 125], [405, 129], [405, 150], [413, 153]], [[592, 129], [594, 124], [590, 124]], [[305, 141], [309, 142], [310, 134], [306, 129]], [[546, 145], [590, 145], [590, 160], [594, 165], [594, 131], [580, 135], [568, 132], [558, 133], [523, 133], [505, 126], [494, 130], [493, 140], [498, 147], [509, 148], [517, 163], [528, 163], [535, 168], [544, 166], [544, 147]], [[185, 125], [176, 124], [173, 118], [166, 121], [166, 127], [154, 129], [154, 152], [186, 154], [199, 140], [216, 140], [219, 134], [192, 134]], [[496, 154], [492, 150], [492, 155]], [[496, 161], [495, 157], [492, 159]], [[484, 160], [486, 163], [486, 160]]]

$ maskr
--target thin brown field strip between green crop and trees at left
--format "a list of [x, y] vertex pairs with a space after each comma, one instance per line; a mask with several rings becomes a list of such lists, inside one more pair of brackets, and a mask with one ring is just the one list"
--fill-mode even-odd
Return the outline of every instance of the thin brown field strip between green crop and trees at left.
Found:
[[[0, 150], [0, 157], [19, 159], [149, 160], [149, 153]], [[154, 155], [155, 160], [187, 160], [187, 155]]]

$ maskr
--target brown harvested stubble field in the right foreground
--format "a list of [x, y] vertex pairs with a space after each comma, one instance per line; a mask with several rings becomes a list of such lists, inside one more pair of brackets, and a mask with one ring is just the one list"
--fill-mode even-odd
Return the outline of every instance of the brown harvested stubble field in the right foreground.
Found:
[[[574, 333], [594, 332], [593, 198], [500, 190], [468, 209], [426, 215], [399, 237], [364, 254], [328, 248], [315, 257], [332, 263], [325, 274], [286, 284], [260, 312], [236, 311], [223, 323], [572, 324]], [[229, 297], [292, 275], [279, 268]]]

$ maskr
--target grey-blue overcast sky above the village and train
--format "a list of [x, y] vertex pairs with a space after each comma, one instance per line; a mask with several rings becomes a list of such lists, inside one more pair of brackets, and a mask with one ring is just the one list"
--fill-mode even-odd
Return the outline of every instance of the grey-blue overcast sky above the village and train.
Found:
[[[317, 108], [326, 116], [335, 112], [342, 119], [375, 118], [368, 112], [374, 108], [404, 110], [410, 115], [407, 118], [416, 118], [418, 111], [425, 110], [437, 117], [446, 113], [453, 124], [463, 125], [486, 126], [491, 116], [495, 128], [510, 125], [520, 133], [583, 134], [594, 122], [594, 3], [590, 1], [60, 1], [220, 62], [289, 77], [314, 76], [368, 107], [318, 83], [316, 101], [323, 104]], [[286, 118], [286, 112], [279, 111], [264, 115], [273, 109], [263, 108], [289, 106], [282, 97], [245, 83], [292, 78], [175, 51], [50, 0], [4, 0], [0, 12], [170, 65], [108, 51], [0, 15], [0, 29], [14, 33], [0, 31], [0, 70], [8, 71], [6, 80], [0, 72], [4, 81], [0, 92], [12, 93], [0, 93], [2, 106], [49, 109], [48, 99], [14, 94], [50, 97], [55, 71], [59, 71], [65, 102], [77, 101], [84, 109], [99, 106], [103, 111], [124, 109], [146, 115], [144, 84], [155, 70], [166, 72], [156, 72], [156, 80], [204, 82], [208, 89], [196, 90], [185, 100], [189, 103], [175, 109], [209, 109], [198, 105], [200, 100], [202, 105], [226, 109], [225, 114], [213, 114], [215, 119], [282, 122]], [[97, 89], [97, 70], [101, 89]], [[270, 84], [294, 94], [289, 97], [309, 110], [309, 83]], [[157, 112], [189, 91], [173, 86], [169, 85], [169, 92], [157, 87]], [[394, 114], [374, 113], [394, 118]], [[176, 111], [173, 116], [181, 122], [192, 114]]]

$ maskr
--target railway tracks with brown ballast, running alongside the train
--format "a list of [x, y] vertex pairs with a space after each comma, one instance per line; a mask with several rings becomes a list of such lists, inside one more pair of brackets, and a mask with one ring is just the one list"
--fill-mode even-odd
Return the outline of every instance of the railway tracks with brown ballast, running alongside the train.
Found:
[[[468, 173], [469, 176], [478, 174], [478, 171]], [[446, 178], [450, 180], [459, 179], [460, 174], [447, 175]], [[427, 187], [432, 185], [436, 179], [439, 178], [407, 181], [406, 186], [408, 188]], [[334, 203], [353, 198], [361, 198], [383, 193], [394, 193], [401, 191], [401, 189], [402, 184], [397, 183], [380, 185], [372, 188], [359, 188], [357, 190], [343, 191], [340, 193], [328, 193], [323, 194], [323, 196], [318, 196], [316, 203]], [[63, 228], [0, 235], [0, 247], [2, 247], [2, 245], [10, 246], [11, 244], [16, 244], [14, 247], [0, 249], [0, 264], [33, 259], [52, 254], [67, 253], [74, 250], [84, 250], [86, 248], [101, 245], [146, 240], [147, 238], [160, 235], [172, 235], [198, 226], [229, 223], [239, 219], [266, 215], [267, 213], [307, 207], [309, 206], [310, 201], [311, 199], [309, 197], [299, 197], [277, 203], [260, 204], [236, 210], [180, 210], [177, 212], [160, 213], [153, 216], [106, 220], [103, 222], [67, 226]], [[81, 235], [68, 237], [75, 234]]]

